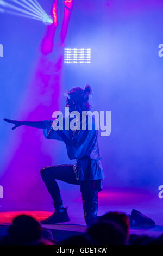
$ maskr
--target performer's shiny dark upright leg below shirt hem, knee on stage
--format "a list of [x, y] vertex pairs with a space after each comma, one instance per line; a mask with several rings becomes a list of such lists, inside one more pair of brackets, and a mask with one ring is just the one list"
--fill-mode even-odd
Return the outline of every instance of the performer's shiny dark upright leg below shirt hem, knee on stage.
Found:
[[89, 193], [82, 192], [84, 218], [88, 227], [95, 223], [98, 219], [98, 192], [90, 191]]

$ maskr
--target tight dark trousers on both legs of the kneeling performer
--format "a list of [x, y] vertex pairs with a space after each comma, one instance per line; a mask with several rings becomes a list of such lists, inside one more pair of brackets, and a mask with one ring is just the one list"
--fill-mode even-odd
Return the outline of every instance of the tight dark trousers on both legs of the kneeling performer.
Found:
[[[55, 210], [58, 210], [63, 205], [59, 186], [55, 180], [65, 181], [74, 185], [81, 185], [81, 182], [76, 179], [73, 165], [71, 164], [44, 167], [41, 169], [41, 177], [45, 182], [48, 192], [53, 198]], [[82, 200], [85, 221], [87, 225], [90, 225], [92, 220], [97, 216], [98, 191], [90, 190], [88, 181], [83, 181], [82, 184]]]

